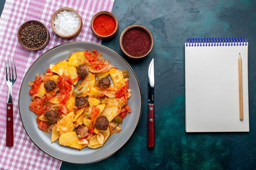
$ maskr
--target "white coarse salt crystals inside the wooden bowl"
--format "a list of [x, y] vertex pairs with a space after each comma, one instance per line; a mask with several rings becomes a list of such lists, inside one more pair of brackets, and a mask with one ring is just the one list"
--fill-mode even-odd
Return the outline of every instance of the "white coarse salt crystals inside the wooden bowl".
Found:
[[79, 18], [72, 11], [63, 11], [57, 14], [54, 24], [56, 31], [61, 35], [71, 35], [79, 27]]

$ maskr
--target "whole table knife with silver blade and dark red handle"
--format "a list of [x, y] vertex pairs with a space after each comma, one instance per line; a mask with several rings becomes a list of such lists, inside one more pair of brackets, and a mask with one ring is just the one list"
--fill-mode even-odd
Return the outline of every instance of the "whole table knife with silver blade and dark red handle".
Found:
[[155, 147], [154, 85], [154, 59], [152, 59], [148, 68], [148, 148]]

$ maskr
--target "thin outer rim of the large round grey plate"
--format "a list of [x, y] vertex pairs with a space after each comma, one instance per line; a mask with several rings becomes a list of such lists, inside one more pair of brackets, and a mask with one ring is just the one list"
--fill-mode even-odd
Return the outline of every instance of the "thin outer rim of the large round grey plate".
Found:
[[[114, 52], [115, 54], [117, 54], [117, 56], [120, 57], [120, 58], [128, 65], [128, 67], [132, 70], [133, 74], [135, 75], [135, 78], [136, 78], [137, 83], [138, 83], [138, 85], [139, 85], [139, 92], [140, 92], [140, 98], [141, 98], [139, 119], [138, 119], [138, 121], [137, 121], [137, 124], [136, 124], [136, 126], [135, 126], [134, 131], [132, 132], [132, 135], [131, 135], [131, 136], [128, 138], [128, 140], [127, 140], [120, 148], [118, 148], [114, 153], [112, 153], [112, 154], [110, 154], [110, 155], [108, 155], [108, 156], [106, 156], [106, 157], [103, 157], [103, 158], [101, 158], [101, 159], [98, 159], [98, 160], [96, 160], [96, 161], [90, 161], [90, 162], [73, 162], [73, 161], [67, 161], [67, 160], [63, 160], [63, 159], [61, 159], [61, 158], [57, 158], [57, 157], [55, 157], [55, 156], [53, 156], [53, 155], [50, 155], [49, 153], [45, 152], [45, 150], [43, 150], [42, 148], [40, 148], [40, 146], [38, 146], [38, 145], [34, 142], [34, 140], [31, 138], [31, 136], [30, 136], [29, 133], [27, 132], [27, 129], [25, 128], [25, 126], [24, 126], [24, 124], [23, 124], [22, 116], [21, 116], [21, 113], [20, 113], [20, 92], [21, 92], [21, 88], [22, 88], [23, 83], [24, 83], [24, 79], [25, 79], [25, 77], [27, 76], [27, 73], [29, 72], [29, 70], [31, 69], [31, 67], [36, 63], [36, 61], [37, 61], [40, 57], [42, 57], [42, 56], [43, 56], [44, 54], [46, 54], [47, 52], [49, 52], [49, 51], [51, 51], [51, 50], [54, 50], [55, 48], [58, 48], [59, 46], [64, 46], [64, 45], [67, 45], [67, 44], [74, 44], [74, 43], [95, 44], [95, 45], [98, 45], [98, 46], [102, 46], [103, 48], [107, 48], [108, 50], [110, 50], [110, 51]], [[21, 84], [20, 84], [20, 91], [19, 91], [19, 98], [18, 98], [18, 105], [19, 105], [18, 109], [19, 109], [19, 113], [20, 113], [20, 119], [21, 119], [21, 122], [22, 122], [22, 126], [24, 127], [24, 129], [25, 129], [27, 135], [29, 136], [29, 138], [31, 139], [31, 141], [32, 141], [40, 150], [42, 150], [44, 153], [46, 153], [46, 154], [49, 155], [50, 157], [53, 157], [53, 158], [58, 159], [58, 160], [63, 161], [63, 162], [75, 163], [75, 164], [87, 164], [87, 163], [98, 162], [98, 161], [101, 161], [101, 160], [103, 160], [103, 159], [106, 159], [106, 158], [108, 158], [108, 157], [114, 155], [115, 153], [117, 153], [117, 151], [119, 151], [121, 148], [123, 148], [124, 145], [131, 139], [131, 137], [134, 135], [134, 133], [135, 133], [135, 131], [136, 131], [138, 125], [139, 125], [140, 119], [141, 119], [142, 106], [143, 106], [143, 100], [142, 100], [142, 99], [143, 99], [143, 98], [142, 98], [142, 92], [141, 92], [141, 85], [140, 85], [140, 83], [139, 83], [139, 80], [138, 80], [138, 78], [137, 78], [137, 75], [135, 74], [135, 72], [134, 72], [134, 70], [132, 69], [132, 67], [130, 66], [130, 64], [129, 64], [123, 57], [121, 57], [120, 54], [118, 54], [117, 52], [115, 52], [114, 50], [112, 50], [112, 49], [110, 49], [110, 48], [108, 48], [108, 47], [106, 47], [106, 46], [103, 46], [102, 44], [98, 44], [98, 43], [94, 43], [94, 42], [90, 42], [90, 41], [71, 41], [71, 42], [59, 44], [58, 46], [55, 46], [55, 47], [53, 47], [53, 48], [50, 48], [49, 50], [47, 50], [47, 51], [45, 51], [43, 54], [41, 54], [41, 55], [29, 66], [29, 69], [28, 69], [27, 72], [25, 73], [24, 77], [22, 78], [22, 82], [21, 82]]]

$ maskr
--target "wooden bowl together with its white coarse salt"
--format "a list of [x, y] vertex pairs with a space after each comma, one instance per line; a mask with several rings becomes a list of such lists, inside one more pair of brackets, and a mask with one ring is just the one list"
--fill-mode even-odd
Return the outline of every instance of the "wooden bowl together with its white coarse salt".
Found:
[[83, 28], [80, 15], [72, 8], [61, 8], [52, 15], [51, 25], [54, 33], [64, 39], [79, 35]]

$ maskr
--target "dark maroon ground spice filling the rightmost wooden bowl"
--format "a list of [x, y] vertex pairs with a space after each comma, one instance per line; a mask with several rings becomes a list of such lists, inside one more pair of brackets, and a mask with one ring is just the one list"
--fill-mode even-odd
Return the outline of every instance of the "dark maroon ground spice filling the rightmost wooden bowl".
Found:
[[123, 44], [126, 52], [139, 57], [148, 52], [151, 41], [148, 33], [139, 28], [133, 28], [124, 35]]

